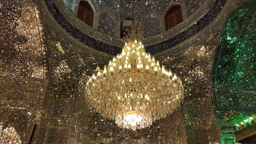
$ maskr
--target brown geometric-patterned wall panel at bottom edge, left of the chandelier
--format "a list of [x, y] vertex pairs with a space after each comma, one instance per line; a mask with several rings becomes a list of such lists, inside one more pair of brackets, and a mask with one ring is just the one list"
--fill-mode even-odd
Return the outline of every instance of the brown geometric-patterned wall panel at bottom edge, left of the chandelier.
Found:
[[49, 128], [47, 132], [46, 143], [67, 143], [68, 128]]

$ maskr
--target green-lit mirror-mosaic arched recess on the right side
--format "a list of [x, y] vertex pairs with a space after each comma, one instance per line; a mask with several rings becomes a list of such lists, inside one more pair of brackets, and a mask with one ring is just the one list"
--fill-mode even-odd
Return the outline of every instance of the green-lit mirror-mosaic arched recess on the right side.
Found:
[[256, 98], [252, 93], [256, 88], [256, 24], [252, 17], [255, 5], [250, 1], [238, 7], [228, 15], [223, 28], [212, 72], [216, 110], [255, 111]]

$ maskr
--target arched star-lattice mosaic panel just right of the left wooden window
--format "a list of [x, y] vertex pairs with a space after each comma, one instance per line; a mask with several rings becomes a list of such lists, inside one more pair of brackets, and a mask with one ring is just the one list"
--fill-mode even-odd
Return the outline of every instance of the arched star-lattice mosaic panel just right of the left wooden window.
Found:
[[101, 14], [99, 18], [98, 30], [100, 32], [103, 32], [104, 34], [114, 36], [114, 28], [115, 28], [114, 20], [112, 19], [110, 14], [109, 13]]

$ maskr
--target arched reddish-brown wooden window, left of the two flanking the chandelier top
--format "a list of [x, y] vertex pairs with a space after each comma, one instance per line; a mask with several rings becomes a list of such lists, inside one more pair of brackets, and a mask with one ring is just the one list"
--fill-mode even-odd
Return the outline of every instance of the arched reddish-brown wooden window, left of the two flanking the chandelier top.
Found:
[[80, 1], [76, 17], [92, 27], [93, 10], [88, 2]]

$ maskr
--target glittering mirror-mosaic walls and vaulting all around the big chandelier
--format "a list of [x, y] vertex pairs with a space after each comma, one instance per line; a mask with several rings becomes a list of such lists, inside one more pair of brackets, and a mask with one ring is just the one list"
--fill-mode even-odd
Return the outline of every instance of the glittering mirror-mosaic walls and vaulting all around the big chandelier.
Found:
[[[135, 1], [146, 52], [185, 90], [181, 107], [136, 131], [103, 118], [83, 96], [97, 66], [121, 51], [129, 1], [91, 1], [93, 27], [76, 18], [78, 0], [0, 3], [0, 143], [235, 143], [225, 113], [255, 113], [253, 0]], [[165, 11], [175, 3], [184, 21], [165, 31]]]

